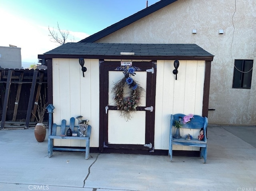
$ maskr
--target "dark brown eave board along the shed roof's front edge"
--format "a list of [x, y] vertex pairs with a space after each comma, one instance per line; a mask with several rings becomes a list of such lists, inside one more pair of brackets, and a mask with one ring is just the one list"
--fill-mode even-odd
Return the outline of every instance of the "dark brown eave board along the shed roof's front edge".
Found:
[[112, 55], [72, 55], [72, 54], [39, 54], [39, 59], [47, 58], [84, 58], [84, 59], [117, 59], [117, 60], [205, 60], [212, 61], [214, 56], [112, 56]]

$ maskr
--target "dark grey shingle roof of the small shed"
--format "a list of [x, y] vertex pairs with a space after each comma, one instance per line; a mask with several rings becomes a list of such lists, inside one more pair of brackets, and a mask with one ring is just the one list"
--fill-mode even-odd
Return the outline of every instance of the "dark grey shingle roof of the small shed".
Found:
[[[134, 55], [124, 56], [121, 52], [134, 52]], [[165, 60], [170, 57], [197, 60], [212, 60], [213, 55], [196, 44], [120, 44], [120, 43], [74, 43], [69, 42], [50, 50], [38, 58], [149, 58]], [[207, 57], [207, 59], [205, 59]], [[193, 59], [196, 60], [196, 59]]]

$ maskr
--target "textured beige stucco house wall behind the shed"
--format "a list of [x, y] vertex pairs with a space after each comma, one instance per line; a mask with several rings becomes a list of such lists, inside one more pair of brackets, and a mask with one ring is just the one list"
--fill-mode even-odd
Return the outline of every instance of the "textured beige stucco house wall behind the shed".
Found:
[[255, 125], [256, 71], [250, 89], [232, 88], [234, 60], [256, 64], [255, 28], [255, 0], [177, 0], [96, 42], [197, 44], [214, 54], [209, 123]]

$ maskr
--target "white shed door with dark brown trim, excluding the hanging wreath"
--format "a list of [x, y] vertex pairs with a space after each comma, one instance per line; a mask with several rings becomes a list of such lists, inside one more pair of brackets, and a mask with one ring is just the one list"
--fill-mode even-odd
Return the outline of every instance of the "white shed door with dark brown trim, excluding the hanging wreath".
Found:
[[[132, 62], [140, 68], [132, 76], [145, 92], [141, 104], [127, 120], [120, 116], [114, 103], [112, 88], [124, 77], [122, 71], [115, 70], [121, 62], [100, 63], [100, 150], [137, 149], [152, 151], [154, 148], [156, 64], [154, 62]], [[129, 92], [129, 89], [126, 92]], [[124, 90], [125, 92], [125, 90]], [[124, 96], [125, 97], [125, 96]]]

